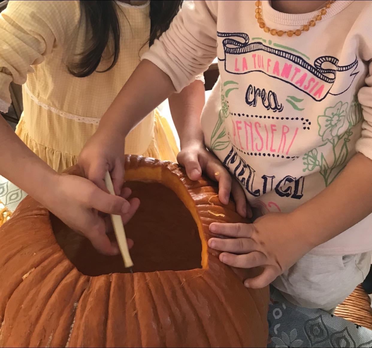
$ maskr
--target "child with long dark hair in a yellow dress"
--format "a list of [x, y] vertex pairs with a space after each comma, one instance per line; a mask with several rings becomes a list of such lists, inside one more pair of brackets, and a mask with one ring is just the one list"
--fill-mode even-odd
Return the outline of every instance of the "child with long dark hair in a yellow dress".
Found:
[[[103, 111], [138, 65], [140, 54], [167, 29], [181, 2], [10, 1], [0, 15], [0, 110], [6, 112], [11, 102], [10, 82], [23, 84], [24, 112], [16, 133], [29, 149], [59, 173], [74, 165], [84, 143], [97, 129]], [[172, 96], [170, 106], [176, 126], [182, 125], [185, 117], [198, 123], [203, 104], [201, 81]], [[63, 210], [68, 202], [77, 204], [73, 195], [79, 192], [80, 200], [88, 206], [97, 208], [98, 204], [101, 210], [112, 212], [112, 197], [105, 197], [82, 179], [54, 175], [0, 121], [0, 174], [39, 199], [67, 224], [88, 234], [100, 251], [117, 252], [115, 246], [110, 247], [105, 233], [98, 239], [92, 237], [92, 231], [97, 229], [92, 225], [96, 219], [77, 218], [77, 210], [67, 217]], [[187, 148], [188, 140], [182, 133], [180, 137], [182, 147]], [[149, 110], [125, 142], [129, 153], [176, 160], [178, 150], [173, 134], [157, 110]], [[120, 144], [124, 153], [124, 137]], [[35, 178], [32, 172], [24, 173], [23, 159], [29, 160], [28, 157], [40, 168], [35, 168]], [[11, 163], [14, 161], [17, 162]], [[122, 176], [118, 170], [111, 174], [114, 178]], [[81, 189], [68, 188], [57, 202], [55, 183], [48, 184], [48, 175], [61, 182], [77, 180], [74, 185], [79, 183]], [[105, 189], [104, 183], [100, 184]], [[59, 189], [57, 192], [61, 194]], [[102, 196], [102, 204], [107, 205], [94, 202], [90, 196], [93, 192]], [[52, 202], [44, 198], [49, 194]], [[128, 202], [119, 202], [125, 202], [128, 209]], [[102, 221], [99, 226], [102, 232]]]

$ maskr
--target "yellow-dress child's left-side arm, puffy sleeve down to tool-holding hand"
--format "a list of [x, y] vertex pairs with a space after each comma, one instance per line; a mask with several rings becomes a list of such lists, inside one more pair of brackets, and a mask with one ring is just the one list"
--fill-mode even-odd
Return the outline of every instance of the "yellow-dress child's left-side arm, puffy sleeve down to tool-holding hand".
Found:
[[[0, 110], [9, 107], [9, 84], [26, 82], [32, 66], [64, 44], [80, 17], [78, 1], [10, 1], [0, 15]], [[58, 18], [58, 20], [56, 20]], [[61, 62], [62, 64], [62, 62]], [[37, 117], [37, 115], [35, 115]], [[58, 175], [16, 136], [0, 117], [0, 175], [23, 189], [66, 224], [85, 234], [106, 254], [118, 253], [110, 243], [98, 209], [124, 213], [128, 219], [138, 207], [126, 199], [101, 191], [87, 179]], [[128, 198], [128, 191], [123, 192]]]

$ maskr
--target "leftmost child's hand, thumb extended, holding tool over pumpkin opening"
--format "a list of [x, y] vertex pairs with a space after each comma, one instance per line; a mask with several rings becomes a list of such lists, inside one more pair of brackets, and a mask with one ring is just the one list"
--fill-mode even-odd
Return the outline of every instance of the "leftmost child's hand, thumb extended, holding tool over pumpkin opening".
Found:
[[[101, 212], [121, 215], [124, 224], [137, 211], [140, 201], [133, 198], [129, 188], [122, 190], [121, 197], [103, 192], [93, 182], [75, 175], [58, 175], [55, 187], [50, 190], [52, 196], [42, 202], [65, 224], [85, 235], [102, 254], [119, 253], [116, 243], [111, 243], [107, 232], [112, 229], [111, 222]], [[99, 213], [100, 212], [100, 213]], [[131, 247], [133, 241], [128, 240]]]

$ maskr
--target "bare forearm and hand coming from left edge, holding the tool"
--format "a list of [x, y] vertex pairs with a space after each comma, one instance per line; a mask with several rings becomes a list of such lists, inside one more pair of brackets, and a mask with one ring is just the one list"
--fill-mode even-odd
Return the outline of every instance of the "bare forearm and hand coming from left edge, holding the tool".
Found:
[[[90, 180], [74, 175], [58, 175], [36, 156], [0, 117], [0, 175], [9, 179], [74, 230], [83, 233], [104, 254], [117, 254], [118, 247], [106, 235], [102, 217], [93, 209], [122, 215], [124, 222], [137, 210], [137, 199], [103, 192]], [[78, 192], [78, 194], [77, 194]]]

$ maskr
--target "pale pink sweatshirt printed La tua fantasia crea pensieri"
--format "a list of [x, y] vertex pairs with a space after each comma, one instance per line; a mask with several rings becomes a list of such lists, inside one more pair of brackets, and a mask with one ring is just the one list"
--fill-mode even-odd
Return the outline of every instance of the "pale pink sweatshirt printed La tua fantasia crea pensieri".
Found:
[[[186, 1], [142, 59], [181, 91], [218, 57], [220, 78], [202, 114], [205, 143], [259, 214], [291, 212], [356, 152], [372, 159], [372, 1], [337, 0], [292, 37], [264, 32], [255, 9], [255, 1]], [[317, 14], [281, 13], [262, 1], [264, 23], [277, 30], [294, 31]], [[363, 186], [340, 195], [362, 195]], [[369, 250], [372, 214], [312, 253]]]

